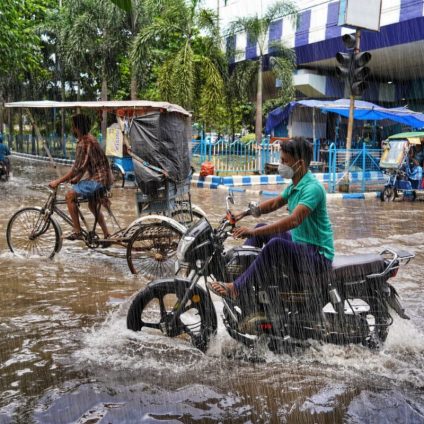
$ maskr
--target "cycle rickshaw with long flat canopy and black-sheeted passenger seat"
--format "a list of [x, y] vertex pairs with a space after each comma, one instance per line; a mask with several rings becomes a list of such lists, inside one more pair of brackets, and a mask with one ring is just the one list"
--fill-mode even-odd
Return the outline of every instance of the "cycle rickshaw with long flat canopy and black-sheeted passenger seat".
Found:
[[[191, 204], [190, 198], [190, 114], [177, 105], [162, 102], [60, 102], [58, 107], [84, 106], [109, 112], [119, 108], [118, 123], [127, 124], [131, 143], [129, 154], [137, 184], [138, 215], [130, 225], [121, 228], [108, 202], [99, 199], [99, 210], [103, 204], [118, 228], [104, 240], [96, 232], [97, 219], [89, 225], [78, 207], [85, 227], [82, 234], [86, 246], [93, 249], [124, 247], [124, 255], [114, 256], [125, 257], [134, 274], [149, 277], [172, 274], [178, 242], [187, 225], [205, 216], [200, 208]], [[53, 258], [62, 247], [62, 231], [54, 214], [72, 225], [70, 217], [60, 207], [64, 204], [64, 199], [57, 198], [57, 190], [50, 190], [44, 206], [17, 211], [7, 226], [10, 250], [24, 257]], [[107, 250], [102, 249], [102, 252], [107, 254]]]

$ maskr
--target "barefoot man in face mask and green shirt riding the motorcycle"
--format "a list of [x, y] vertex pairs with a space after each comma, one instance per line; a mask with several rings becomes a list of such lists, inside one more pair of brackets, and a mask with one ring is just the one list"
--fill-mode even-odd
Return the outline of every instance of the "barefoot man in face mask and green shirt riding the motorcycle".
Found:
[[[281, 143], [279, 174], [292, 183], [281, 196], [259, 204], [256, 217], [288, 204], [289, 216], [255, 228], [239, 227], [235, 238], [246, 238], [246, 245], [262, 247], [260, 255], [234, 282], [210, 284], [223, 297], [249, 301], [255, 282], [273, 284], [281, 276], [307, 273], [317, 275], [331, 269], [334, 257], [333, 231], [327, 213], [326, 192], [309, 170], [312, 145], [303, 138]], [[240, 220], [245, 214], [235, 217]], [[250, 302], [249, 302], [250, 303]]]

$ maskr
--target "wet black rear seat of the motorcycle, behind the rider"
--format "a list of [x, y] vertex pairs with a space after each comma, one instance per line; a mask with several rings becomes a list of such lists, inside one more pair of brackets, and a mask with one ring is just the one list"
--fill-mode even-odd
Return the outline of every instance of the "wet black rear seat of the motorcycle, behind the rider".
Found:
[[332, 272], [335, 281], [348, 282], [383, 272], [384, 268], [384, 258], [377, 254], [336, 255]]

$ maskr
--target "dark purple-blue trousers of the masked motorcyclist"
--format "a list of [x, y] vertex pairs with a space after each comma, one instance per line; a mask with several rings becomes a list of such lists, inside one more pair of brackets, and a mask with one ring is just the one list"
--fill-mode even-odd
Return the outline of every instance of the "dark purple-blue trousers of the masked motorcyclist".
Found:
[[[258, 224], [257, 227], [263, 225], [266, 224]], [[264, 244], [255, 261], [234, 281], [240, 294], [261, 281], [266, 285], [278, 284], [283, 281], [283, 275], [291, 281], [302, 282], [303, 279], [303, 283], [313, 284], [317, 274], [331, 267], [331, 261], [319, 253], [317, 246], [294, 242], [290, 232], [252, 237], [245, 242], [245, 245], [255, 247]]]

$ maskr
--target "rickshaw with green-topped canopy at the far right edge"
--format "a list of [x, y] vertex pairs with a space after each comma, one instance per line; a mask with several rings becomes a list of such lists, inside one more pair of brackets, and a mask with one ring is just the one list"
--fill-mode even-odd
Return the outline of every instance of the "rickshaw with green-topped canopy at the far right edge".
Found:
[[424, 192], [422, 161], [413, 163], [414, 147], [424, 144], [424, 131], [406, 132], [390, 136], [383, 142], [380, 168], [387, 175], [387, 182], [380, 193], [380, 199], [393, 201], [401, 195], [415, 200]]

